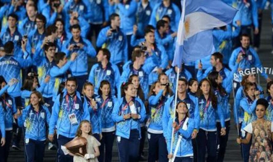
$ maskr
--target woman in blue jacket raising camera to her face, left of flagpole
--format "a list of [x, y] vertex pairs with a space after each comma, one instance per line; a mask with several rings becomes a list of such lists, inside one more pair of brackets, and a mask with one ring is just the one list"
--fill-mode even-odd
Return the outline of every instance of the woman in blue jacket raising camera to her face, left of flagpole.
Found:
[[[162, 127], [163, 108], [167, 101], [166, 92], [166, 85], [162, 86], [159, 81], [152, 84], [149, 92], [150, 113], [146, 123], [149, 143], [148, 162], [155, 162], [157, 154], [160, 162], [167, 161], [167, 144]], [[157, 151], [158, 153], [156, 153]]]

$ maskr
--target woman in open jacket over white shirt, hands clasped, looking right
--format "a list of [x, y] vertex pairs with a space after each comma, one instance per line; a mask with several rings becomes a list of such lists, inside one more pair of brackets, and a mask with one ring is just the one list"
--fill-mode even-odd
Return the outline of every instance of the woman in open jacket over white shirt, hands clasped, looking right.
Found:
[[121, 96], [114, 105], [112, 119], [116, 123], [117, 147], [121, 162], [138, 161], [141, 130], [146, 118], [144, 103], [135, 97], [132, 83], [122, 85]]

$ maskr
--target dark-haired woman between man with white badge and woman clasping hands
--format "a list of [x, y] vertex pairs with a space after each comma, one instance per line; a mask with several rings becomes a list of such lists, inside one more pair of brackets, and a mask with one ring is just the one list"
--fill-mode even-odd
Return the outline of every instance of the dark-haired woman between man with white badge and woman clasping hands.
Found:
[[112, 161], [112, 148], [115, 138], [115, 123], [111, 119], [112, 111], [117, 99], [111, 96], [110, 83], [107, 80], [102, 80], [98, 90], [99, 96], [96, 97], [99, 107], [101, 109], [102, 119], [102, 139], [99, 146], [100, 156], [99, 161], [104, 161], [104, 147], [105, 147], [105, 162]]

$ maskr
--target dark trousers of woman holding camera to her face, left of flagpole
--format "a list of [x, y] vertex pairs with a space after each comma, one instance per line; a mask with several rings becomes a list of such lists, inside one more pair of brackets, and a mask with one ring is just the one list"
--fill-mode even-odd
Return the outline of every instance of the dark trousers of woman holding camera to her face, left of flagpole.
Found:
[[168, 161], [168, 151], [167, 151], [167, 143], [162, 134], [154, 134], [147, 132], [148, 136], [148, 162], [156, 161], [156, 151], [158, 150], [158, 161], [165, 162]]

